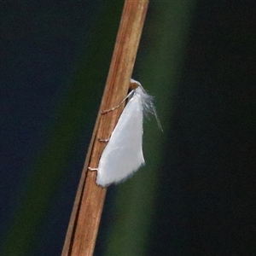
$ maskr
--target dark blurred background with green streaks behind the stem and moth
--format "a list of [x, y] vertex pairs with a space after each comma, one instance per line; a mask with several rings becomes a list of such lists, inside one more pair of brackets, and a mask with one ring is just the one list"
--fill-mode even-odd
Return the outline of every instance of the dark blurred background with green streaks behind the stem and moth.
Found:
[[[123, 1], [1, 3], [0, 254], [60, 255]], [[147, 165], [95, 255], [256, 254], [256, 3], [152, 1], [134, 78]]]

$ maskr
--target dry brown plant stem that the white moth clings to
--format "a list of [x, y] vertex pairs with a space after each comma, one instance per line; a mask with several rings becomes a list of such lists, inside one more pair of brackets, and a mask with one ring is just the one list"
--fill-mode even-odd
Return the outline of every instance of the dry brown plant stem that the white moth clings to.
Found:
[[124, 108], [121, 106], [114, 111], [101, 113], [117, 106], [127, 95], [147, 9], [148, 0], [125, 1], [101, 109], [84, 163], [62, 256], [93, 255], [106, 189], [96, 185], [96, 172], [87, 172], [87, 170], [88, 166], [92, 168], [98, 166], [106, 146], [106, 143], [98, 139], [110, 137]]

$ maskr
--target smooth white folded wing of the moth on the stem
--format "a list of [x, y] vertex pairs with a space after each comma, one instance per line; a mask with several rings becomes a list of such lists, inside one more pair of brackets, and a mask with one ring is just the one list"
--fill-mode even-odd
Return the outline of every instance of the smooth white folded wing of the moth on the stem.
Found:
[[96, 183], [119, 183], [144, 164], [143, 102], [137, 94], [125, 106], [99, 162]]

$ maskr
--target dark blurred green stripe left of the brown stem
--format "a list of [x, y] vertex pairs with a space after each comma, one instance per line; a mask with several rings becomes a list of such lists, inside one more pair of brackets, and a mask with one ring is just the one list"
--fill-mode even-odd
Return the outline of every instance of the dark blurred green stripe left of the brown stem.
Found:
[[[35, 243], [40, 240], [38, 233], [44, 225], [51, 197], [60, 185], [72, 150], [84, 131], [84, 125], [96, 119], [90, 117], [90, 106], [100, 103], [99, 94], [102, 92], [98, 90], [96, 94], [96, 86], [99, 81], [103, 81], [103, 90], [122, 7], [121, 0], [102, 3], [96, 30], [90, 35], [86, 56], [81, 57], [81, 67], [57, 114], [49, 141], [45, 142], [42, 152], [35, 153], [38, 158], [29, 168], [30, 177], [20, 191], [24, 201], [20, 202], [11, 228], [5, 236], [0, 253], [2, 256], [30, 255]], [[86, 148], [84, 154], [85, 151]]]

